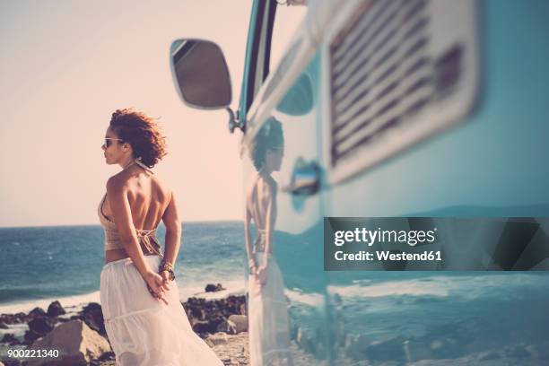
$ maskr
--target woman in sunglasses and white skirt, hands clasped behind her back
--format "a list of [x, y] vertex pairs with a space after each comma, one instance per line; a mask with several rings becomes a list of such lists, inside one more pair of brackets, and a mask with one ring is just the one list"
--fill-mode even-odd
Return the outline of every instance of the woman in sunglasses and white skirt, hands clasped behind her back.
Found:
[[107, 164], [122, 168], [98, 210], [106, 262], [100, 301], [117, 365], [222, 365], [190, 327], [173, 281], [181, 224], [175, 196], [151, 170], [166, 155], [158, 126], [144, 113], [117, 110], [102, 149]]

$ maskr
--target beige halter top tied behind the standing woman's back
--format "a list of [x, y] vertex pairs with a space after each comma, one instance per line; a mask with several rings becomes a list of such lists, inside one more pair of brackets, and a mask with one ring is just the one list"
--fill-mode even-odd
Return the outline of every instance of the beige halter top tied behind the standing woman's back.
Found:
[[[112, 249], [123, 249], [122, 241], [120, 240], [120, 235], [118, 234], [117, 225], [115, 222], [109, 220], [109, 217], [105, 216], [103, 213], [103, 203], [107, 198], [107, 194], [101, 199], [100, 205], [98, 207], [98, 215], [100, 217], [100, 223], [105, 231], [105, 250]], [[138, 230], [135, 229], [137, 234], [137, 240], [140, 244], [143, 244], [149, 252], [161, 256], [161, 246], [158, 238], [156, 237], [156, 229], [153, 230]]]

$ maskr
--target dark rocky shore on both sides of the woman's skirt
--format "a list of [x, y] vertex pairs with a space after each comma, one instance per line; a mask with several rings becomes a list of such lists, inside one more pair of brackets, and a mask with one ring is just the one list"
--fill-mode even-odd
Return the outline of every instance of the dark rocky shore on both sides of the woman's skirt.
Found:
[[[206, 286], [206, 292], [221, 289], [220, 283]], [[225, 365], [248, 365], [248, 318], [243, 295], [209, 301], [189, 298], [181, 305], [193, 330], [205, 339]], [[57, 363], [48, 365], [115, 364], [101, 306], [96, 302], [65, 309], [59, 301], [53, 301], [48, 309], [0, 314], [0, 331], [0, 366], [3, 363], [5, 366], [45, 364], [48, 359], [22, 362], [7, 354], [8, 349], [44, 348], [64, 350]]]

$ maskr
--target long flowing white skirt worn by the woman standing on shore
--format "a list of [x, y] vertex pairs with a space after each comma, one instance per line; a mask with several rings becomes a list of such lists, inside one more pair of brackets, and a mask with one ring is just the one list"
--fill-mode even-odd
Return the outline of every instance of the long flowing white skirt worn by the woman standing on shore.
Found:
[[[145, 260], [158, 268], [161, 257]], [[103, 267], [100, 301], [117, 365], [222, 365], [190, 326], [175, 282], [166, 298], [168, 305], [153, 298], [130, 258]]]

